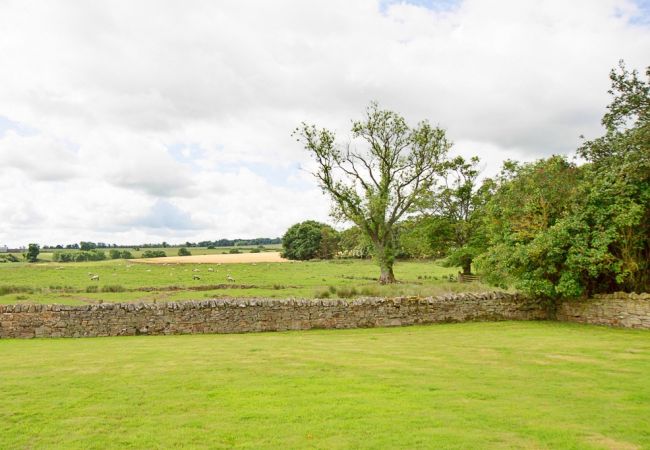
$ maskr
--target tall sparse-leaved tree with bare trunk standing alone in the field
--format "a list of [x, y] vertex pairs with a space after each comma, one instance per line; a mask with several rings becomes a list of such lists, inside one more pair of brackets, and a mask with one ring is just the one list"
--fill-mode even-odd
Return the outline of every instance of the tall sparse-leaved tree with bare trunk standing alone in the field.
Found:
[[411, 127], [371, 103], [352, 123], [347, 145], [337, 144], [333, 131], [306, 123], [294, 136], [316, 162], [313, 174], [332, 199], [332, 215], [361, 229], [372, 243], [379, 281], [393, 283], [395, 226], [444, 173], [445, 131], [426, 121]]

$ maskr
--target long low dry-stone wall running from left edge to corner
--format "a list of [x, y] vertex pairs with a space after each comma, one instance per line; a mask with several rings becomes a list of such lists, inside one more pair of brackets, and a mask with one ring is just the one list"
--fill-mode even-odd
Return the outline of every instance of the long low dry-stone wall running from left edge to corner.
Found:
[[498, 292], [353, 301], [225, 299], [84, 306], [24, 304], [0, 305], [0, 338], [244, 333], [547, 318], [542, 302]]

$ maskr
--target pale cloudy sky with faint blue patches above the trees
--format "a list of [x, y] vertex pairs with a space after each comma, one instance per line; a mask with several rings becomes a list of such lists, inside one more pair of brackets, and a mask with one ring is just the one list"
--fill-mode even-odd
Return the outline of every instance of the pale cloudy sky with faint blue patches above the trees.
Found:
[[0, 246], [332, 223], [291, 131], [373, 100], [485, 176], [569, 155], [649, 55], [647, 0], [0, 0]]

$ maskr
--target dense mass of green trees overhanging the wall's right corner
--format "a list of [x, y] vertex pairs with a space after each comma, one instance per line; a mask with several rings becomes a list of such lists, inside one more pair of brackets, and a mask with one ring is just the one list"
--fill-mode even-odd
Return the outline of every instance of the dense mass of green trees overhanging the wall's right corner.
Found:
[[553, 157], [505, 167], [488, 205], [489, 280], [550, 298], [650, 290], [650, 69], [621, 64], [606, 134], [578, 150], [577, 167]]

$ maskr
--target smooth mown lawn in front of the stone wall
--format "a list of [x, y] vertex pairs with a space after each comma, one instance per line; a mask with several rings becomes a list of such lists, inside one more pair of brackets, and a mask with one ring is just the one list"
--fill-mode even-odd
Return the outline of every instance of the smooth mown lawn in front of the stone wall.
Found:
[[650, 448], [650, 333], [0, 341], [0, 448]]

